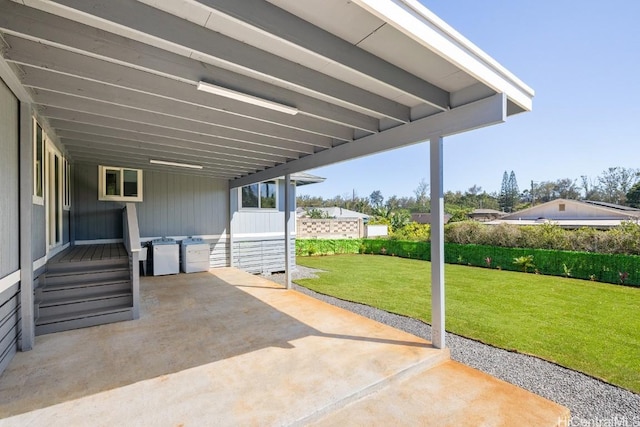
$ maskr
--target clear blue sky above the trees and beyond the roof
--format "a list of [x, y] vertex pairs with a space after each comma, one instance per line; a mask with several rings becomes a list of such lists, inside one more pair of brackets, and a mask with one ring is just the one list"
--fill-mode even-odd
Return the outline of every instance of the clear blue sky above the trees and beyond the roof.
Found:
[[[421, 0], [536, 91], [533, 111], [444, 141], [444, 188], [498, 191], [533, 181], [640, 168], [640, 1]], [[318, 168], [324, 198], [410, 196], [429, 180], [425, 143]]]

